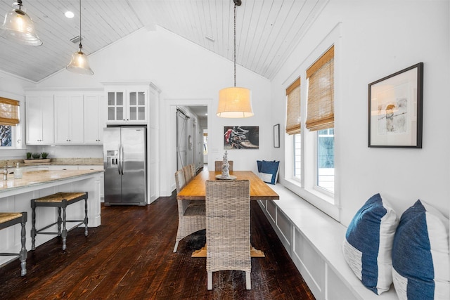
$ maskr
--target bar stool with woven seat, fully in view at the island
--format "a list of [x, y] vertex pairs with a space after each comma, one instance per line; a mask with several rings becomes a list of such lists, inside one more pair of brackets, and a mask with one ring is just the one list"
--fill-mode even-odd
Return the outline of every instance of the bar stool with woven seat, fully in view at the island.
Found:
[[[65, 217], [65, 208], [68, 207], [68, 205], [73, 204], [75, 202], [78, 202], [80, 200], [84, 200], [84, 220], [66, 220]], [[55, 223], [51, 223], [48, 226], [45, 226], [44, 228], [41, 228], [39, 230], [36, 229], [36, 207], [58, 207], [58, 221]], [[37, 199], [31, 200], [31, 208], [32, 208], [32, 230], [31, 230], [31, 244], [32, 244], [32, 250], [36, 249], [34, 242], [36, 240], [36, 235], [39, 233], [41, 235], [58, 235], [63, 237], [63, 250], [66, 249], [66, 240], [68, 236], [68, 230], [65, 228], [66, 222], [79, 222], [76, 226], [73, 228], [77, 228], [78, 226], [82, 225], [84, 223], [84, 235], [87, 236], [87, 192], [81, 192], [81, 193], [56, 193], [53, 195], [40, 197]], [[61, 209], [63, 210], [63, 216], [61, 217]], [[63, 224], [63, 230], [61, 230], [61, 223]], [[43, 230], [46, 230], [47, 228], [58, 224], [58, 232], [42, 232]], [[73, 229], [71, 228], [71, 230]]]

